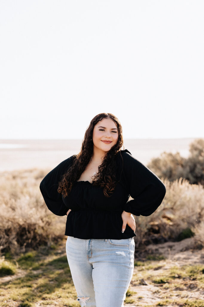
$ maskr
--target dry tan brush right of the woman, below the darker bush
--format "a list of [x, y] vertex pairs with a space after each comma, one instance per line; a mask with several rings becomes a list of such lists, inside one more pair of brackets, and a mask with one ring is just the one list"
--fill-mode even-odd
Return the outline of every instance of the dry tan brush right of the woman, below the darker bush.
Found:
[[204, 221], [202, 185], [191, 185], [183, 178], [172, 182], [162, 178], [162, 181], [166, 186], [162, 204], [150, 216], [135, 216], [137, 247], [141, 244], [176, 241], [182, 235], [186, 238], [194, 233], [197, 238], [201, 238], [199, 225]]

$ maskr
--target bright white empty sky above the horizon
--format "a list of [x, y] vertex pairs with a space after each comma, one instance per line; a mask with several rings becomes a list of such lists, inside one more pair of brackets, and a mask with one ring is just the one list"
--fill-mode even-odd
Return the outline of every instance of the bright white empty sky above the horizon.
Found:
[[204, 1], [1, 0], [0, 139], [204, 137]]

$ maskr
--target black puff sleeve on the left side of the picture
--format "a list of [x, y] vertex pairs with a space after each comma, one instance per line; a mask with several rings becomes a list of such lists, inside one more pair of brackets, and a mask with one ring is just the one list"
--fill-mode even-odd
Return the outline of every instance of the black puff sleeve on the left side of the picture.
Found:
[[57, 192], [59, 181], [72, 163], [73, 156], [62, 161], [48, 173], [40, 183], [40, 192], [43, 195], [47, 208], [58, 216], [66, 215], [67, 208], [62, 200], [62, 194]]

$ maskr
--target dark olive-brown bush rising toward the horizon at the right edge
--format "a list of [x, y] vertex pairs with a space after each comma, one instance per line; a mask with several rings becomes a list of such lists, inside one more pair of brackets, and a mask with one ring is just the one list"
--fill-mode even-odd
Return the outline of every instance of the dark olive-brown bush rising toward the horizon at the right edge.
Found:
[[181, 157], [179, 152], [163, 152], [160, 157], [151, 159], [147, 167], [159, 178], [174, 181], [182, 177], [190, 184], [201, 183], [204, 186], [204, 139], [195, 139], [189, 152], [188, 158]]

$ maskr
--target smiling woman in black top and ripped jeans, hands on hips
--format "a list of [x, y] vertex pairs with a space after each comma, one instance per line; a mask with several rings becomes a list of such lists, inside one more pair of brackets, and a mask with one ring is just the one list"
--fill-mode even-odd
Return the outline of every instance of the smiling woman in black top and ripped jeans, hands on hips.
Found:
[[163, 182], [122, 146], [117, 117], [98, 114], [80, 153], [40, 183], [50, 211], [67, 214], [66, 253], [81, 306], [124, 306], [134, 269], [133, 215], [149, 216], [165, 196]]

